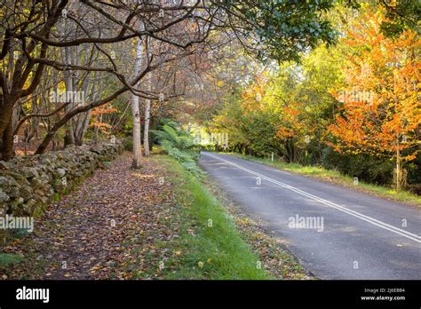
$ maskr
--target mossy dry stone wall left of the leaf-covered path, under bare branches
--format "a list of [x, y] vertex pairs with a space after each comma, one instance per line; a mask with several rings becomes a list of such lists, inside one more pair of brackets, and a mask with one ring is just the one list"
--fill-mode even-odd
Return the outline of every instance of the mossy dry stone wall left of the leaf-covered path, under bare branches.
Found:
[[120, 143], [103, 143], [0, 161], [0, 216], [36, 216], [122, 152]]

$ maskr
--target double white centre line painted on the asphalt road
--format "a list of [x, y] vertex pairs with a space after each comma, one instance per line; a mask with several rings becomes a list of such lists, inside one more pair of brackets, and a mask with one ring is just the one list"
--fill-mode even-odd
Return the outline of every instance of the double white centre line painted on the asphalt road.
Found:
[[404, 236], [406, 238], [409, 238], [412, 241], [421, 242], [421, 236], [418, 236], [417, 234], [412, 234], [412, 233], [409, 233], [408, 231], [402, 230], [401, 228], [398, 228], [396, 226], [388, 225], [387, 223], [385, 223], [383, 221], [380, 221], [380, 220], [377, 220], [376, 218], [371, 218], [369, 216], [363, 215], [360, 212], [357, 212], [357, 211], [354, 211], [354, 210], [349, 210], [346, 207], [343, 207], [343, 206], [338, 205], [337, 203], [330, 202], [328, 200], [324, 200], [321, 197], [315, 196], [313, 194], [309, 194], [306, 191], [303, 191], [301, 189], [298, 189], [295, 186], [290, 186], [290, 185], [287, 185], [287, 184], [285, 184], [285, 183], [283, 183], [281, 181], [275, 180], [273, 178], [269, 178], [269, 177], [267, 177], [265, 175], [262, 175], [262, 174], [260, 174], [260, 173], [258, 173], [256, 171], [254, 171], [254, 170], [249, 170], [249, 169], [243, 167], [242, 165], [236, 164], [234, 162], [230, 162], [230, 161], [227, 161], [225, 159], [218, 158], [215, 155], [210, 155], [210, 154], [205, 154], [205, 153], [203, 153], [203, 155], [209, 155], [212, 158], [215, 158], [215, 159], [218, 159], [220, 161], [223, 161], [223, 162], [226, 162], [228, 164], [231, 164], [231, 165], [233, 165], [234, 167], [236, 167], [236, 168], [238, 168], [240, 170], [247, 171], [250, 174], [253, 174], [255, 176], [258, 176], [258, 177], [260, 177], [262, 179], [266, 179], [267, 181], [270, 181], [270, 182], [274, 183], [275, 185], [282, 186], [282, 187], [284, 187], [286, 189], [289, 189], [289, 190], [291, 190], [293, 192], [296, 192], [298, 194], [305, 195], [306, 197], [308, 197], [308, 198], [310, 198], [310, 199], [312, 199], [314, 201], [322, 202], [323, 204], [328, 205], [331, 208], [334, 208], [336, 210], [340, 210], [340, 211], [346, 212], [347, 214], [349, 214], [349, 215], [351, 215], [353, 217], [360, 218], [361, 220], [367, 221], [367, 222], [369, 222], [370, 224], [372, 224], [374, 226], [379, 226], [381, 228], [384, 228], [385, 230], [391, 231], [394, 234], [400, 234], [401, 236]]

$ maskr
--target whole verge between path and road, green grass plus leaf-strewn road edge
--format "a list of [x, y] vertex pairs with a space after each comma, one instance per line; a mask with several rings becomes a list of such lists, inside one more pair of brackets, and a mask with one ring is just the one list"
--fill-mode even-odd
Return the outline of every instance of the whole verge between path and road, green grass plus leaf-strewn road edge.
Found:
[[210, 178], [195, 178], [168, 155], [151, 160], [171, 183], [175, 207], [163, 217], [172, 237], [156, 238], [154, 254], [143, 257], [150, 268], [133, 279], [314, 279]]

